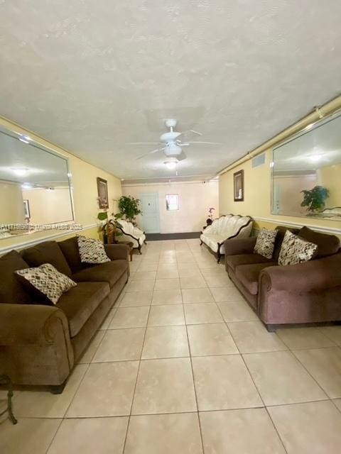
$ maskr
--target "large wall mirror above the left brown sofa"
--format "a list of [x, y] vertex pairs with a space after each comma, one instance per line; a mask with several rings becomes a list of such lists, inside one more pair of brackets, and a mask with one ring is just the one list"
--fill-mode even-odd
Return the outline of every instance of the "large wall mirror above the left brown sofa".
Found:
[[0, 127], [0, 238], [73, 220], [67, 159]]

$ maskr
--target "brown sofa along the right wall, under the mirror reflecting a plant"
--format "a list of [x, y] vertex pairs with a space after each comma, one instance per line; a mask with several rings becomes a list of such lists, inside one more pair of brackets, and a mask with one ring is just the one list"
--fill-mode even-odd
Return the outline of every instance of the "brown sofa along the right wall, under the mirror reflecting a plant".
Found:
[[225, 242], [225, 267], [239, 291], [269, 331], [289, 323], [341, 321], [341, 250], [333, 235], [303, 227], [296, 235], [318, 245], [313, 260], [298, 265], [278, 265], [284, 233], [276, 227], [274, 255], [254, 253], [256, 237]]

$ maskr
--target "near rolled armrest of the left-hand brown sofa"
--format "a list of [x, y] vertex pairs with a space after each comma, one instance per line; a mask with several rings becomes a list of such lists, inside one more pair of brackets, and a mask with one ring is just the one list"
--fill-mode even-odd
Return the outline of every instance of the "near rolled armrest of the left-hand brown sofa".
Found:
[[46, 345], [63, 333], [69, 338], [65, 314], [54, 306], [0, 304], [0, 345]]

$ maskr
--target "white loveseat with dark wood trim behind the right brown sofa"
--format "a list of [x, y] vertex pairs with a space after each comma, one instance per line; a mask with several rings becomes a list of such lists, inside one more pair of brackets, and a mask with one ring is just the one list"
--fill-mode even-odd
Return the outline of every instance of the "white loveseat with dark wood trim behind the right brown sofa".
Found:
[[251, 230], [252, 219], [249, 216], [239, 216], [239, 214], [220, 216], [202, 232], [200, 245], [205, 243], [216, 253], [219, 263], [222, 254], [225, 253], [224, 241], [229, 238], [247, 238], [251, 235]]

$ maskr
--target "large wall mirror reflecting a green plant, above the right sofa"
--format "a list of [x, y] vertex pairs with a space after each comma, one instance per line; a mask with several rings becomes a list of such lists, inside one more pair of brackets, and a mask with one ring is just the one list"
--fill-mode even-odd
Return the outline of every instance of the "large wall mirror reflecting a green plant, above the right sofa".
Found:
[[341, 114], [274, 148], [272, 214], [341, 221]]

